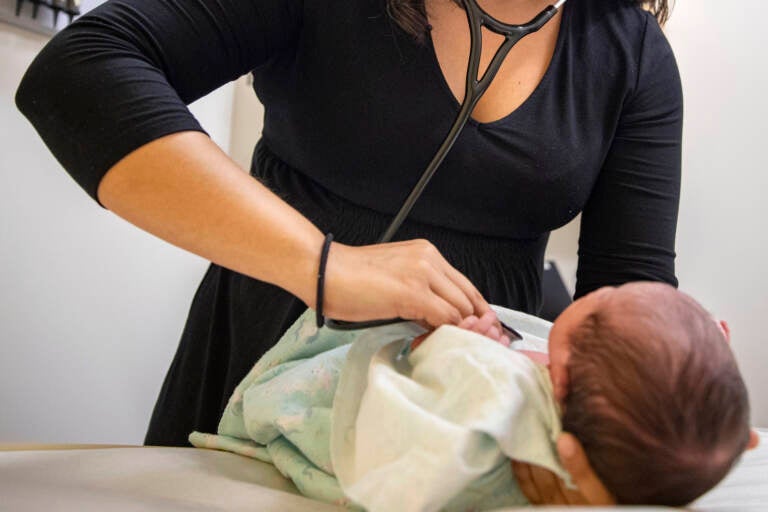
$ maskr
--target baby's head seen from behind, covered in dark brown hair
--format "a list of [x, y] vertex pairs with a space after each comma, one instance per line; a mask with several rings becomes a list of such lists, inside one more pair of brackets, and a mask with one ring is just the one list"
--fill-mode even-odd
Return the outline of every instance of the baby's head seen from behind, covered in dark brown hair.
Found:
[[653, 283], [615, 292], [572, 335], [563, 429], [620, 504], [686, 505], [747, 447], [747, 390], [696, 301]]

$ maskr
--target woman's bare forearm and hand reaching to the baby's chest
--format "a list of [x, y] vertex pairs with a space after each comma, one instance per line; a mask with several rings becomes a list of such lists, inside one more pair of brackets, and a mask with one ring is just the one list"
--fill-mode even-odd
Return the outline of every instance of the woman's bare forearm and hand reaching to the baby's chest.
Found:
[[[98, 195], [163, 240], [315, 306], [322, 233], [205, 135], [178, 133], [133, 151], [107, 173]], [[483, 304], [428, 242], [331, 249], [324, 306], [334, 318], [456, 324]]]

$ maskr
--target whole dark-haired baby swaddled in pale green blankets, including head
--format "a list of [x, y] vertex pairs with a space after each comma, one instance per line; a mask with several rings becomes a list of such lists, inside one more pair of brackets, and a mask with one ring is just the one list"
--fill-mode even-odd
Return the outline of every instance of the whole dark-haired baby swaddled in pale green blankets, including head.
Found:
[[[524, 332], [546, 335], [543, 321], [499, 312]], [[195, 433], [193, 444], [272, 462], [311, 497], [345, 503], [343, 487], [347, 496], [379, 510], [394, 502], [409, 504], [397, 507], [402, 510], [519, 505], [525, 500], [509, 463], [502, 462], [505, 456], [558, 470], [553, 454], [560, 424], [552, 389], [546, 372], [524, 364], [526, 358], [512, 357], [487, 338], [465, 336], [461, 333], [466, 331], [453, 327], [438, 329], [424, 348], [407, 354], [398, 347], [410, 342], [397, 345], [395, 340], [413, 338], [419, 332], [415, 324], [366, 334], [316, 332], [311, 321], [311, 316], [297, 321], [238, 386], [220, 435]], [[361, 358], [365, 344], [376, 341], [371, 335], [387, 339], [381, 350]], [[530, 339], [535, 336], [526, 336]], [[725, 336], [698, 304], [676, 290], [655, 284], [603, 289], [563, 313], [550, 340], [568, 340], [572, 347], [564, 429], [579, 438], [619, 502], [686, 503], [719, 481], [748, 445], [746, 392]], [[471, 356], [468, 364], [461, 360], [465, 352]], [[362, 378], [355, 380], [356, 374]], [[477, 390], [462, 386], [464, 380], [485, 383], [486, 389], [473, 395]], [[359, 389], [366, 382], [367, 389]], [[501, 395], [490, 396], [494, 393]], [[345, 415], [352, 421], [345, 423]], [[334, 457], [329, 447], [332, 416]], [[354, 443], [352, 449], [344, 446], [350, 437], [345, 428], [352, 425], [353, 431], [354, 421], [363, 425], [362, 435], [352, 432], [351, 437], [369, 440], [367, 445], [358, 440], [358, 448], [366, 448], [357, 453]], [[381, 434], [403, 430], [406, 439], [401, 433], [395, 439], [415, 446], [397, 452], [390, 441], [374, 455], [372, 450], [380, 451], [379, 435], [393, 439], [377, 435], [377, 428]], [[454, 431], [457, 437], [452, 438]], [[414, 439], [407, 439], [411, 434]], [[446, 452], [452, 446], [440, 445], [440, 435], [461, 439], [472, 453], [462, 448], [463, 458], [451, 459]], [[435, 444], [430, 452], [419, 443]], [[356, 459], [347, 457], [349, 452]], [[426, 458], [414, 459], [414, 452]], [[423, 460], [424, 467], [412, 475], [435, 475], [433, 485], [458, 495], [430, 495], [428, 478], [423, 486], [409, 486], [409, 478], [401, 483], [399, 472], [418, 464], [413, 460]], [[404, 462], [399, 470], [398, 462]], [[462, 472], [464, 480], [452, 478]], [[455, 480], [454, 486], [447, 486], [447, 480]]]

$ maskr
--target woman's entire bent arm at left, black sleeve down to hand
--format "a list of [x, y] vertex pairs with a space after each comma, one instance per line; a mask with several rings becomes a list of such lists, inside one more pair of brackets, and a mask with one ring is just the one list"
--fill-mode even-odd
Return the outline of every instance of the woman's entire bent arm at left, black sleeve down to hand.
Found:
[[[315, 306], [322, 234], [242, 172], [185, 103], [299, 37], [298, 0], [112, 0], [35, 59], [17, 104], [95, 199], [138, 227]], [[334, 244], [325, 313], [431, 325], [489, 310], [425, 241]]]

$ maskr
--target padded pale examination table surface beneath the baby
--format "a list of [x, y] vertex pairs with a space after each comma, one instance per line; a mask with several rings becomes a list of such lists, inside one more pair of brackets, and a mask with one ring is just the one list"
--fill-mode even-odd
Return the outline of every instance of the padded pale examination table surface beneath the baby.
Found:
[[[739, 467], [691, 510], [768, 511], [768, 431], [760, 435], [759, 448], [745, 455]], [[0, 451], [0, 510], [341, 509], [298, 495], [293, 484], [271, 465], [232, 453], [194, 448], [99, 448]]]

